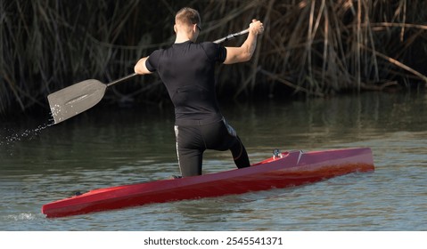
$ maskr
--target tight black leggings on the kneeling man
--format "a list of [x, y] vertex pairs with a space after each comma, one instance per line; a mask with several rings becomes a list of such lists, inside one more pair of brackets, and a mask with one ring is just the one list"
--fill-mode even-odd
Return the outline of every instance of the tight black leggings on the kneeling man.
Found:
[[250, 166], [248, 153], [234, 129], [225, 120], [205, 125], [176, 125], [177, 157], [183, 177], [201, 175], [206, 149], [231, 150], [238, 168]]

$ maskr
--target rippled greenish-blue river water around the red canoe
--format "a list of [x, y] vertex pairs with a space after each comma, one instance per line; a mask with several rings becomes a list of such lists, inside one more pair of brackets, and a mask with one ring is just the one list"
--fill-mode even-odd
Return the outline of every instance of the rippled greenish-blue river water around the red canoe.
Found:
[[[92, 108], [61, 124], [0, 123], [0, 230], [427, 230], [427, 95], [224, 105], [252, 163], [273, 149], [370, 147], [374, 173], [291, 189], [46, 219], [77, 191], [178, 173], [170, 109]], [[234, 168], [211, 152], [204, 173]]]

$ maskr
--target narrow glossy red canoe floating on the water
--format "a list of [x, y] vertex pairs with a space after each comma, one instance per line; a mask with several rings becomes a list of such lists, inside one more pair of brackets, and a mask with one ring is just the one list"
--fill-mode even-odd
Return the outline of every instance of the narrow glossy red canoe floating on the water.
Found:
[[290, 151], [249, 168], [95, 189], [43, 205], [42, 213], [46, 217], [63, 217], [136, 205], [286, 188], [346, 173], [372, 171], [374, 160], [369, 148]]

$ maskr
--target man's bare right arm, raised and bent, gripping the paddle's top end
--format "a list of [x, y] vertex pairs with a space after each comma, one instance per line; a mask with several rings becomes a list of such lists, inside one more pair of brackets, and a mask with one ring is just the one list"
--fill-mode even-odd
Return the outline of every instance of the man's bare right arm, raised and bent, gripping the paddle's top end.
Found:
[[248, 61], [252, 58], [257, 47], [257, 36], [264, 32], [264, 26], [259, 20], [252, 20], [249, 26], [249, 35], [240, 47], [226, 47], [224, 64], [233, 64]]

